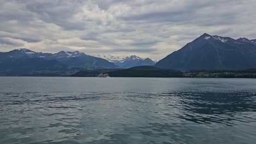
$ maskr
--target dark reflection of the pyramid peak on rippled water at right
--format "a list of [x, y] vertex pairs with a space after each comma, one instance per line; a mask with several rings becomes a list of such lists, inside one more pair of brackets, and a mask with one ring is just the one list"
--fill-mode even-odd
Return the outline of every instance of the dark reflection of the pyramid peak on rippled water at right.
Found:
[[[169, 93], [173, 96], [173, 93]], [[166, 93], [165, 93], [166, 95]], [[182, 104], [182, 115], [177, 117], [195, 123], [223, 123], [233, 125], [237, 122], [255, 122], [248, 117], [256, 111], [256, 94], [214, 93], [214, 92], [179, 92], [175, 94]]]

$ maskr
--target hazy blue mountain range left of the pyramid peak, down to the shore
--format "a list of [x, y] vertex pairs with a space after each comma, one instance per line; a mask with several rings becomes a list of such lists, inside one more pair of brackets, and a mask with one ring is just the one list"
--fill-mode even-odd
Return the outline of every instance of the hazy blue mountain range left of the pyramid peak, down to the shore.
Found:
[[137, 56], [113, 62], [86, 55], [79, 51], [43, 53], [28, 49], [15, 49], [9, 52], [0, 52], [0, 75], [27, 75], [38, 73], [38, 71], [45, 73], [45, 71], [73, 71], [95, 68], [129, 68], [139, 64], [154, 65], [155, 63], [149, 58], [142, 59]]

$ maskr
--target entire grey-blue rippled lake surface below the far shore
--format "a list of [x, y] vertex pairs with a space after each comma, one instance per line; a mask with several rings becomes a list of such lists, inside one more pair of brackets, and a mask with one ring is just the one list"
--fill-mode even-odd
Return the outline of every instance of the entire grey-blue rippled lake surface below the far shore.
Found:
[[0, 143], [255, 143], [256, 79], [0, 77]]

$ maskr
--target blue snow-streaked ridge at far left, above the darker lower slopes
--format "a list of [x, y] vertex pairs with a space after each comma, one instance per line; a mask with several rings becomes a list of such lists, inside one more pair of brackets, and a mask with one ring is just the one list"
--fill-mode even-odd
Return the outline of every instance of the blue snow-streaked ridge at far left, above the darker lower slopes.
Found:
[[57, 53], [34, 52], [28, 49], [16, 49], [9, 52], [0, 52], [0, 62], [5, 59], [22, 59], [22, 58], [43, 58], [48, 60], [56, 60], [70, 67], [100, 67], [100, 68], [116, 68], [113, 63], [106, 59], [86, 55], [83, 52], [60, 51]]

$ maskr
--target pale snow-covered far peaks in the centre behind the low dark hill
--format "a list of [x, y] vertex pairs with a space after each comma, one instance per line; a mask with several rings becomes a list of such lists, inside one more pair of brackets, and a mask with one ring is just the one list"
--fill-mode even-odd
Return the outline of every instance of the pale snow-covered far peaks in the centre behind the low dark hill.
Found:
[[118, 65], [119, 68], [131, 68], [136, 66], [142, 66], [142, 65], [154, 65], [156, 62], [153, 61], [150, 58], [141, 58], [138, 56], [130, 56], [130, 57], [114, 57], [111, 55], [97, 55], [96, 57], [101, 57], [104, 59], [107, 59], [107, 61], [114, 63], [115, 65]]

